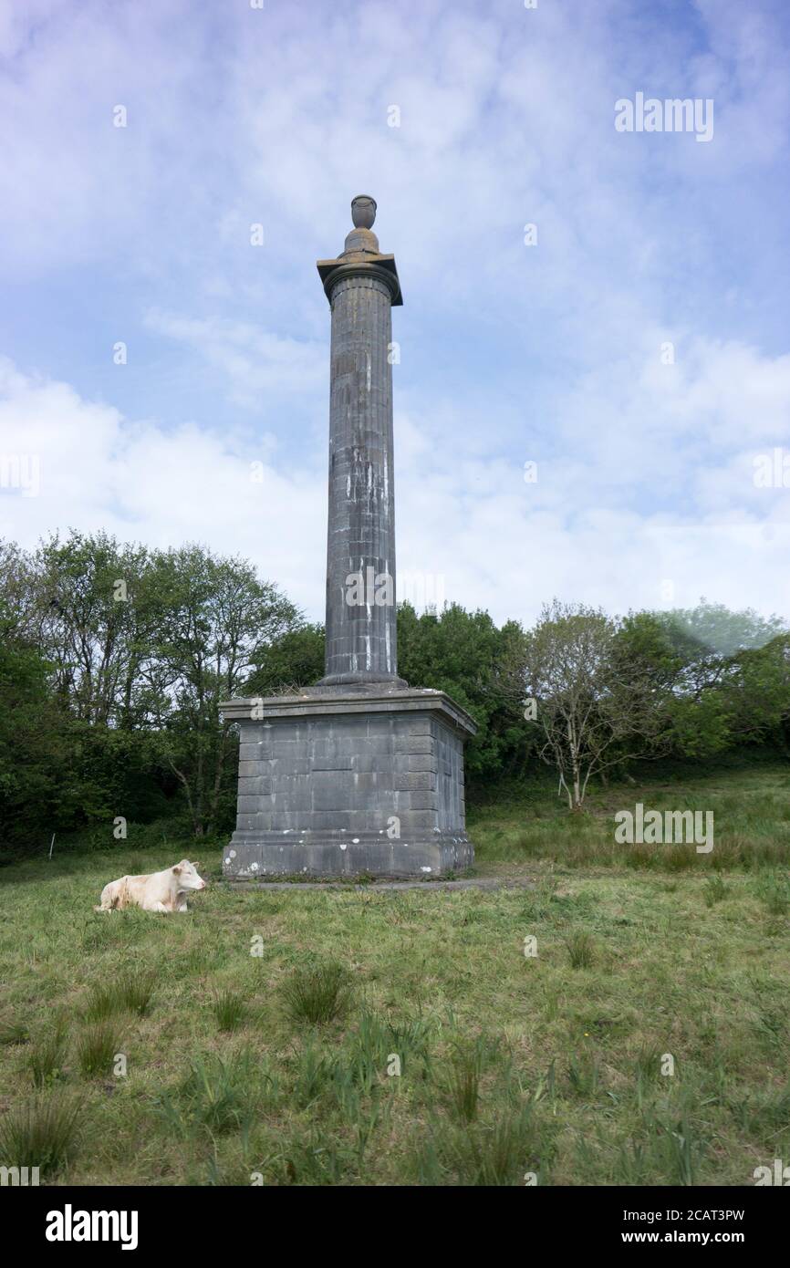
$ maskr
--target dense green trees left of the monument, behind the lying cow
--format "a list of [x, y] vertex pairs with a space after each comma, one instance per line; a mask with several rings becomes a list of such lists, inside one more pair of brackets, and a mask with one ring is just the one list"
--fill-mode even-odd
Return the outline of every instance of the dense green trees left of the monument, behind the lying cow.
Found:
[[105, 534], [0, 547], [0, 833], [232, 814], [219, 702], [301, 624], [242, 559]]

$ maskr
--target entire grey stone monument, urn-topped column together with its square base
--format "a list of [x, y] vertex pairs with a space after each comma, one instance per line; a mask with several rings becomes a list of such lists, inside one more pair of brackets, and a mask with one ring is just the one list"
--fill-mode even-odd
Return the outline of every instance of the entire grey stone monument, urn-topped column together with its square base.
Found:
[[398, 678], [392, 255], [375, 203], [318, 273], [332, 311], [326, 676], [222, 704], [238, 724], [238, 814], [222, 870], [266, 876], [441, 876], [469, 867], [464, 742], [477, 727], [443, 691]]

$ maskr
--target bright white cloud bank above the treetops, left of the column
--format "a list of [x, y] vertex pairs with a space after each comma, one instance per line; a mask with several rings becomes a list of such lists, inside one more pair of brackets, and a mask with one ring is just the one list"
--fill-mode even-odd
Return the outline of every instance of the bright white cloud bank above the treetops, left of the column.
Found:
[[[238, 435], [131, 424], [63, 383], [0, 373], [4, 453], [38, 458], [37, 497], [0, 489], [0, 536], [33, 547], [67, 527], [157, 547], [202, 541], [242, 554], [297, 604], [323, 593], [326, 478], [278, 470]], [[252, 478], [260, 462], [262, 481]]]

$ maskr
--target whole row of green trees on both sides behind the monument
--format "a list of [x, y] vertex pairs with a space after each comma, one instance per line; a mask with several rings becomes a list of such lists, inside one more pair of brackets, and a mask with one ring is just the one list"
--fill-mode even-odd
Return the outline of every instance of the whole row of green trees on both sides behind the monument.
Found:
[[[529, 630], [458, 605], [398, 610], [401, 675], [478, 723], [472, 792], [543, 758], [571, 808], [651, 756], [786, 749], [789, 639], [777, 618], [705, 602], [624, 619], [554, 602]], [[221, 701], [322, 672], [322, 626], [243, 559], [103, 533], [0, 543], [0, 846], [119, 817], [230, 832], [237, 741]]]

